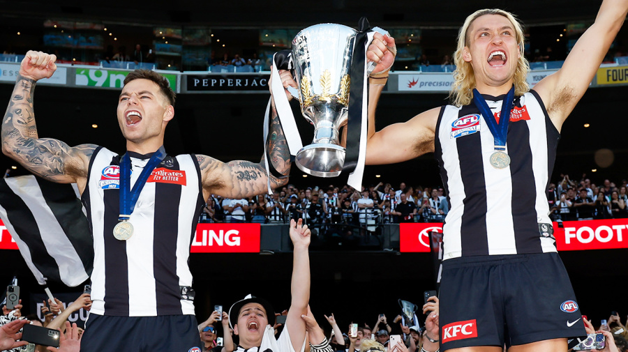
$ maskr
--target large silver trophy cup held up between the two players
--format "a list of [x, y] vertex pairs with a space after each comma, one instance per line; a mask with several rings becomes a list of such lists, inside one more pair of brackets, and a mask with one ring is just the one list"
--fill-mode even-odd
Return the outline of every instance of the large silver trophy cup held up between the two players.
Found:
[[341, 24], [317, 24], [292, 40], [301, 112], [314, 125], [312, 144], [301, 148], [296, 158], [306, 174], [334, 177], [343, 170], [345, 148], [338, 145], [338, 130], [347, 123], [356, 33]]

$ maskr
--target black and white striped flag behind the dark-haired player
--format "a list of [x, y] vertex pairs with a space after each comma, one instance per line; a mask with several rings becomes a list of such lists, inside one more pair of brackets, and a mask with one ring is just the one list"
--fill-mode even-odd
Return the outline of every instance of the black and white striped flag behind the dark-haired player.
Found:
[[77, 286], [94, 267], [94, 240], [75, 184], [0, 180], [0, 217], [39, 284]]

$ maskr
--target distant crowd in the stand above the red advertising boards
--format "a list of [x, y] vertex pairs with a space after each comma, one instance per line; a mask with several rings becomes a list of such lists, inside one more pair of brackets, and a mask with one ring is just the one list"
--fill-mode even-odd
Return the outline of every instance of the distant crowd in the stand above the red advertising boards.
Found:
[[[585, 174], [579, 181], [560, 175], [548, 186], [551, 217], [555, 221], [628, 217], [627, 181], [607, 180], [596, 185]], [[302, 218], [311, 227], [377, 225], [401, 222], [442, 222], [449, 211], [442, 186], [421, 187], [401, 183], [362, 186], [315, 186], [299, 189], [287, 185], [272, 196], [222, 199], [212, 195], [200, 222], [257, 222], [284, 224]]]

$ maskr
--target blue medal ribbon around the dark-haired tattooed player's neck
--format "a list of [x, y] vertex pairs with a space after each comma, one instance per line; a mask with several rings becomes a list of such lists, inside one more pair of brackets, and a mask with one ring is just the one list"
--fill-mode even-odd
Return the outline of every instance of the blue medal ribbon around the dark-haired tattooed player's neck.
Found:
[[124, 153], [120, 160], [120, 215], [119, 221], [126, 221], [129, 219], [135, 203], [140, 197], [140, 192], [146, 184], [153, 169], [165, 158], [165, 149], [161, 146], [151, 157], [149, 162], [142, 170], [140, 177], [137, 178], [133, 190], [130, 189], [130, 157], [128, 153]]

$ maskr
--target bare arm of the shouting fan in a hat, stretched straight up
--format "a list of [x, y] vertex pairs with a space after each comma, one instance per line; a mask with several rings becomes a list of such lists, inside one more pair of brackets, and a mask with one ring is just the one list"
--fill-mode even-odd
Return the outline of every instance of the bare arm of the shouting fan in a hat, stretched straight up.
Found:
[[290, 333], [290, 341], [294, 351], [301, 351], [306, 333], [306, 323], [301, 319], [308, 314], [310, 301], [310, 257], [308, 247], [310, 245], [310, 229], [299, 222], [290, 220], [290, 239], [294, 245], [292, 255], [292, 281], [290, 293], [292, 300], [290, 309], [285, 319], [285, 326]]

